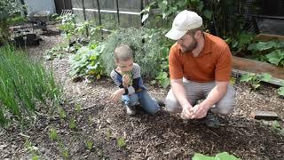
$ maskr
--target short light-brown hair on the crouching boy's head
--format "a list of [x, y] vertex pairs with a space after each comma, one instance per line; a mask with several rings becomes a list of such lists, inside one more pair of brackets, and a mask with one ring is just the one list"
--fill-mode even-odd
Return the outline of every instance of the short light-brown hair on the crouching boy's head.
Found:
[[133, 51], [130, 46], [126, 44], [120, 44], [114, 50], [114, 60], [130, 60], [133, 59]]

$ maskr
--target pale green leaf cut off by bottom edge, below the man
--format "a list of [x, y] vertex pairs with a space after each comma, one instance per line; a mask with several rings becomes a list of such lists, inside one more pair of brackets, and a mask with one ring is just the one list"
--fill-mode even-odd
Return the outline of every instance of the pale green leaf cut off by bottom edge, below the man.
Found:
[[193, 160], [241, 160], [233, 155], [229, 155], [227, 152], [222, 152], [216, 156], [205, 156], [199, 153], [194, 154]]

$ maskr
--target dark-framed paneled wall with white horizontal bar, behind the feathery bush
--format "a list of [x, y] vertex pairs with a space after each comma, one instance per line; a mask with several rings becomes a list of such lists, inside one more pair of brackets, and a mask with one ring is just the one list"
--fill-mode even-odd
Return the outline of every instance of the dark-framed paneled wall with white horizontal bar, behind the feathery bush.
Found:
[[143, 0], [72, 0], [76, 22], [90, 20], [94, 26], [109, 31], [121, 28], [140, 28]]

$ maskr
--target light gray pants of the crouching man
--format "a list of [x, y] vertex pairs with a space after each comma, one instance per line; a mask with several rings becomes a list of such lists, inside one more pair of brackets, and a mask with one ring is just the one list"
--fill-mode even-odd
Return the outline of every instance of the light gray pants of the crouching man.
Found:
[[[190, 104], [194, 106], [198, 100], [206, 99], [209, 92], [215, 87], [215, 82], [209, 83], [197, 83], [193, 81], [189, 81], [183, 78], [183, 84], [185, 86], [185, 94], [187, 100], [189, 100]], [[233, 89], [231, 84], [228, 85], [228, 90], [225, 93], [225, 96], [217, 101], [214, 108], [210, 108], [213, 113], [220, 115], [229, 115], [233, 112], [233, 108], [235, 107], [235, 95], [236, 92]], [[172, 89], [168, 92], [167, 98], [165, 100], [166, 108], [173, 113], [182, 112], [182, 107], [180, 106], [177, 98], [174, 96]]]

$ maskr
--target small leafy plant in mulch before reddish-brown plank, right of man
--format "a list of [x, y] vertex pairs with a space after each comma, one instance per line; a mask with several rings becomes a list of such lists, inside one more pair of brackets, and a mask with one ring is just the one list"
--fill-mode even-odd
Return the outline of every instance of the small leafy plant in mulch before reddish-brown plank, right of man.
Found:
[[269, 82], [272, 79], [272, 76], [269, 74], [254, 74], [254, 73], [247, 73], [241, 76], [241, 82], [247, 82], [251, 85], [251, 87], [256, 90], [260, 86], [260, 82]]

